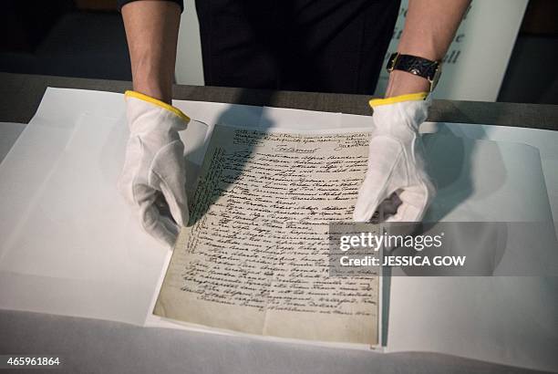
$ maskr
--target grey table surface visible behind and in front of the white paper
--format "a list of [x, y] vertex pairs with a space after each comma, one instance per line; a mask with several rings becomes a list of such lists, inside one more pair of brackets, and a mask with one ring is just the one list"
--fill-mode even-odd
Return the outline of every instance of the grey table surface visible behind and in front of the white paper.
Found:
[[[121, 81], [6, 73], [0, 73], [0, 80], [0, 121], [20, 123], [33, 117], [47, 87], [113, 92], [130, 88], [129, 82]], [[369, 98], [360, 95], [176, 86], [174, 98], [370, 114]], [[558, 107], [435, 100], [429, 120], [553, 130], [558, 123]], [[317, 348], [8, 310], [0, 311], [0, 331], [0, 355], [59, 355], [66, 365], [55, 372], [525, 372], [432, 353], [379, 354]]]

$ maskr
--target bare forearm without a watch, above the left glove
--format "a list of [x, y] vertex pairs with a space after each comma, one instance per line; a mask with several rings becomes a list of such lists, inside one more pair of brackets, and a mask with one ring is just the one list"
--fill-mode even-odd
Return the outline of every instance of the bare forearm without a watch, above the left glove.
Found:
[[134, 90], [171, 102], [181, 6], [136, 1], [121, 9]]

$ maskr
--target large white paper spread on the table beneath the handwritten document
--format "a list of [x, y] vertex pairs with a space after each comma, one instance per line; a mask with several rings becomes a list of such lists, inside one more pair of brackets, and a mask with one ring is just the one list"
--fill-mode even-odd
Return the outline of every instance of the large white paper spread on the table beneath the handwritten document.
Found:
[[[210, 128], [229, 123], [333, 130], [370, 124], [368, 117], [294, 109], [175, 105]], [[36, 117], [0, 165], [0, 307], [146, 321], [168, 252], [140, 232], [114, 188], [126, 134], [121, 95], [47, 89]], [[449, 145], [454, 151], [451, 158], [440, 157], [446, 163], [439, 168], [450, 170], [452, 162], [467, 166], [441, 178], [442, 200], [430, 214], [449, 221], [552, 221], [536, 150], [453, 134], [429, 141], [434, 160], [439, 152], [447, 155], [442, 150]], [[201, 153], [196, 154], [192, 159], [198, 161]], [[449, 198], [450, 209], [444, 203]], [[555, 278], [394, 278], [388, 344], [393, 350], [556, 369], [556, 289]]]

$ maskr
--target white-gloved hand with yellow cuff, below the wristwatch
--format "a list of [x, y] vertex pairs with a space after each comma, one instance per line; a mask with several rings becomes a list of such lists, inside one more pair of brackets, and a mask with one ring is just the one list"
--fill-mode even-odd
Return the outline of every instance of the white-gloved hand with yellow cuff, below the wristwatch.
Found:
[[375, 129], [353, 213], [356, 222], [368, 222], [394, 192], [400, 204], [386, 222], [418, 222], [424, 216], [436, 190], [425, 170], [418, 126], [427, 119], [430, 102], [426, 92], [370, 100]]

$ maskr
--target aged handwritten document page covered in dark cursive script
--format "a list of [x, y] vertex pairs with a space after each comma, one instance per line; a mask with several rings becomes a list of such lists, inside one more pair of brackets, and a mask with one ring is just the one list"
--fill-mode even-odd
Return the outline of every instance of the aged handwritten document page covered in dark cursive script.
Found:
[[378, 278], [329, 276], [368, 134], [216, 126], [154, 313], [204, 327], [377, 344]]

